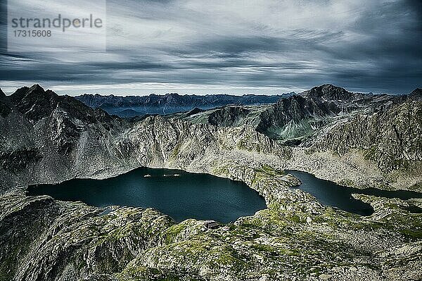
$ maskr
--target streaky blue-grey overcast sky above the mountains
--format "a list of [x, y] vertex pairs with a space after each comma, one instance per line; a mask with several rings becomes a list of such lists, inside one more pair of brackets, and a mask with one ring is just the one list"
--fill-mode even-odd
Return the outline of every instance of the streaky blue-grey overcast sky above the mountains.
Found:
[[103, 53], [13, 53], [3, 44], [0, 87], [122, 95], [422, 87], [420, 0], [114, 0], [106, 26]]

